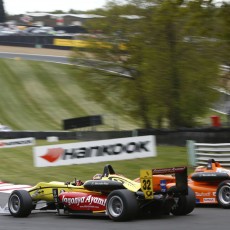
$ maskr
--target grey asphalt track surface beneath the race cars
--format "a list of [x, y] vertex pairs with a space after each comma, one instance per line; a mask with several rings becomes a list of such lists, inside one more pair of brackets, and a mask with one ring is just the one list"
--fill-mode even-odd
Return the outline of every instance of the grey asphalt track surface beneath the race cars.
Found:
[[[3, 207], [9, 194], [0, 193]], [[55, 212], [32, 213], [27, 218], [0, 214], [0, 230], [218, 230], [229, 229], [230, 209], [200, 206], [187, 216], [155, 216], [129, 222], [113, 222], [108, 217], [58, 216]]]

